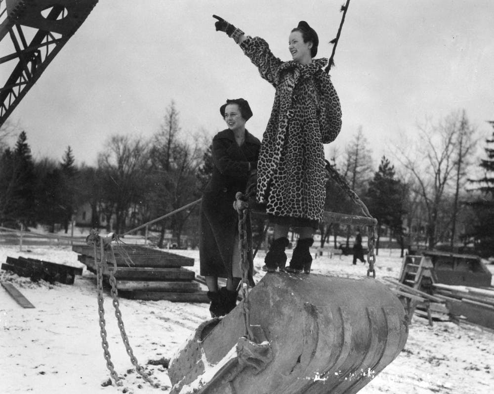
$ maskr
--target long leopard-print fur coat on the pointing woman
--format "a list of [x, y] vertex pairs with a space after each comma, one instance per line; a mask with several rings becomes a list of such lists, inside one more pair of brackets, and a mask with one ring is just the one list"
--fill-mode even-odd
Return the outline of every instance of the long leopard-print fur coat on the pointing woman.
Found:
[[319, 222], [325, 200], [323, 144], [341, 130], [339, 99], [322, 69], [328, 60], [283, 62], [259, 37], [248, 37], [241, 47], [276, 88], [259, 153], [257, 200], [275, 217]]

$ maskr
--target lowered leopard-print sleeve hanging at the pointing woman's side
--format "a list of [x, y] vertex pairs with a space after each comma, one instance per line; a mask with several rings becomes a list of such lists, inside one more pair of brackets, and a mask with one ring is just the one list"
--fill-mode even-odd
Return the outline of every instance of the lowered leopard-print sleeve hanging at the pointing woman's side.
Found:
[[323, 144], [337, 137], [341, 131], [341, 105], [338, 94], [331, 83], [329, 75], [320, 71], [318, 79], [320, 93], [320, 127]]

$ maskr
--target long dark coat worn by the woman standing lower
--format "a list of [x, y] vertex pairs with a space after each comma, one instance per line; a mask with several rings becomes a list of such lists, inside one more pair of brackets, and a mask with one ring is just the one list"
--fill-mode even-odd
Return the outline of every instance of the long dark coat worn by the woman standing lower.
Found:
[[[232, 277], [233, 248], [238, 233], [238, 214], [233, 208], [235, 194], [245, 193], [248, 167], [257, 166], [260, 141], [246, 131], [245, 142], [238, 146], [231, 130], [217, 133], [212, 142], [213, 173], [201, 203], [199, 256], [201, 275]], [[247, 220], [249, 278], [252, 281], [252, 230]]]

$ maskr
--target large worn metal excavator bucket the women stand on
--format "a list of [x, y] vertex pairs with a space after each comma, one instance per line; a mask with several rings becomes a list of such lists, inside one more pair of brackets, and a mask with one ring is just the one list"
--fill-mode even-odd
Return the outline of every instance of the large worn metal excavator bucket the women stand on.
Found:
[[400, 353], [400, 300], [368, 278], [269, 273], [241, 302], [203, 323], [171, 360], [171, 393], [357, 393]]

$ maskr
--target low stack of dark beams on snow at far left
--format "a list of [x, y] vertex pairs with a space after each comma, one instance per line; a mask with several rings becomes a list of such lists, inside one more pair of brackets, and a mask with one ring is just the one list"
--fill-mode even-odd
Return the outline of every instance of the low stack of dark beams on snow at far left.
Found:
[[82, 268], [24, 257], [7, 257], [6, 262], [1, 264], [1, 269], [31, 278], [33, 282], [43, 279], [50, 283], [60, 282], [66, 285], [74, 284], [75, 276], [82, 275]]

